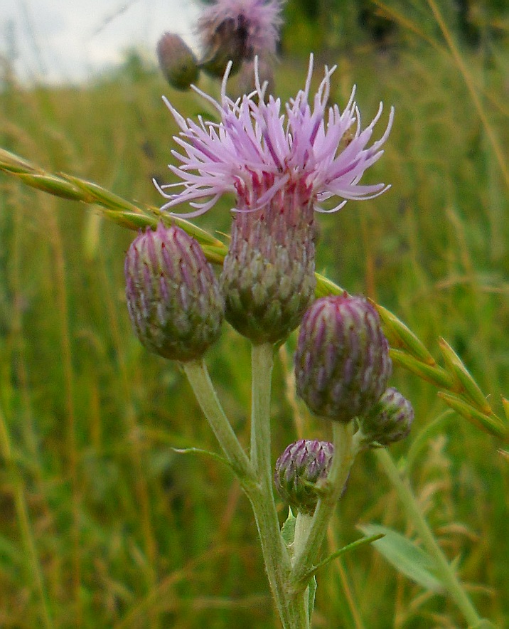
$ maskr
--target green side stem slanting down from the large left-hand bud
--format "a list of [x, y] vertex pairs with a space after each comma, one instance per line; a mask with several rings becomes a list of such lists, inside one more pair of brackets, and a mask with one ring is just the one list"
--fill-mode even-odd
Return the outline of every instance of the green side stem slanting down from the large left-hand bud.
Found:
[[228, 462], [246, 488], [254, 482], [253, 468], [218, 400], [205, 362], [201, 359], [184, 363], [183, 370]]

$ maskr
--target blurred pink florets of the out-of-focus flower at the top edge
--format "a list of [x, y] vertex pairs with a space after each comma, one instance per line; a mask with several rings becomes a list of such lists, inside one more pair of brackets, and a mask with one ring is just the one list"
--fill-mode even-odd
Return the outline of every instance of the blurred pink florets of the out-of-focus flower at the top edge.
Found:
[[245, 49], [251, 58], [260, 53], [275, 53], [282, 24], [281, 9], [280, 0], [218, 0], [198, 19], [198, 34], [208, 48], [218, 30], [230, 22], [245, 38]]

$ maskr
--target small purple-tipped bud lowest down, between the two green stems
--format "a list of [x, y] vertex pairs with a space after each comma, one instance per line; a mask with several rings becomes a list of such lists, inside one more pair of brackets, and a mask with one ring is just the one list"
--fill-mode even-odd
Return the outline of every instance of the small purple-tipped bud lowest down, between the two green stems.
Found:
[[328, 441], [301, 439], [291, 443], [276, 462], [274, 482], [279, 496], [297, 511], [312, 515], [333, 452]]

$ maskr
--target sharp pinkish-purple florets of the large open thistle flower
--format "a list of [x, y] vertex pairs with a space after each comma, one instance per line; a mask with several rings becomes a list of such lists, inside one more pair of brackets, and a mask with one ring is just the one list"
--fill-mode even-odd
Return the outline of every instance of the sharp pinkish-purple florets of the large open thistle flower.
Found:
[[[256, 68], [256, 64], [255, 64]], [[364, 130], [360, 127], [360, 112], [355, 104], [355, 88], [348, 105], [340, 112], [338, 105], [327, 106], [331, 88], [331, 75], [336, 68], [325, 68], [325, 76], [309, 105], [309, 90], [313, 72], [313, 56], [304, 90], [289, 100], [282, 112], [279, 98], [269, 96], [264, 102], [267, 84], [260, 85], [255, 69], [256, 90], [235, 102], [227, 97], [226, 82], [229, 68], [223, 79], [221, 103], [195, 88], [220, 112], [220, 122], [199, 124], [184, 118], [165, 99], [166, 105], [181, 128], [174, 139], [184, 154], [172, 151], [180, 166], [169, 166], [180, 179], [178, 184], [159, 186], [161, 194], [169, 199], [161, 208], [166, 210], [179, 203], [189, 202], [195, 211], [183, 216], [198, 216], [210, 209], [226, 192], [242, 193], [240, 205], [250, 209], [265, 206], [285, 186], [304, 182], [315, 209], [333, 212], [342, 208], [348, 199], [373, 199], [390, 186], [385, 184], [360, 185], [366, 169], [383, 154], [380, 150], [392, 127], [394, 110], [382, 137], [368, 147], [373, 129], [382, 115], [382, 103], [373, 121]], [[355, 125], [355, 126], [354, 126]], [[352, 129], [352, 127], [354, 127]], [[271, 186], [256, 198], [252, 192], [253, 179], [267, 179]], [[167, 194], [166, 189], [184, 186], [178, 194]], [[343, 201], [331, 209], [321, 203], [333, 196]], [[203, 203], [196, 203], [203, 199]]]

